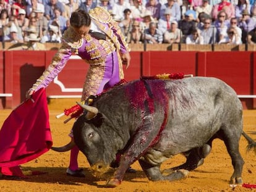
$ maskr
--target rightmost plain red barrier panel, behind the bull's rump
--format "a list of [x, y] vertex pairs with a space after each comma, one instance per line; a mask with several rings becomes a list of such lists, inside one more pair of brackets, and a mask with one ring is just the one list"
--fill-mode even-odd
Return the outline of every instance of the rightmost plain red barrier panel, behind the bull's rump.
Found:
[[[254, 94], [252, 52], [206, 52], [205, 61], [198, 59], [199, 61], [203, 64], [198, 66], [205, 65], [203, 76], [220, 78], [239, 95]], [[252, 108], [252, 98], [241, 98], [241, 101], [244, 108]]]

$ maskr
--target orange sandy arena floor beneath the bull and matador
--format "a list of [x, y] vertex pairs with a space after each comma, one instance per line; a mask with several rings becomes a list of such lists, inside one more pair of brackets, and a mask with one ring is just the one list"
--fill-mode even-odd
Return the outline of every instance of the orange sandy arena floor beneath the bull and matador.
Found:
[[[73, 120], [67, 124], [63, 121], [66, 117], [56, 119], [55, 116], [75, 104], [74, 99], [52, 99], [49, 104], [51, 132], [54, 146], [61, 146], [70, 141], [67, 136], [72, 127]], [[0, 111], [0, 125], [11, 113], [11, 110]], [[244, 130], [256, 140], [256, 110], [244, 111]], [[256, 185], [256, 155], [254, 152], [246, 152], [247, 141], [241, 138], [240, 151], [244, 157], [244, 169], [242, 177], [244, 183]], [[184, 162], [181, 155], [164, 162], [162, 169], [174, 167]], [[79, 154], [79, 165], [85, 169], [86, 178], [74, 178], [66, 175], [66, 168], [69, 164], [69, 152], [49, 151], [43, 156], [22, 165], [24, 172], [40, 170], [47, 172], [43, 175], [29, 176], [25, 180], [0, 180], [0, 191], [256, 191], [242, 186], [231, 188], [228, 184], [233, 173], [231, 159], [226, 151], [224, 143], [220, 140], [213, 142], [211, 154], [205, 159], [205, 163], [196, 170], [189, 173], [184, 180], [177, 182], [150, 182], [142, 172], [138, 162], [132, 165], [137, 173], [126, 173], [124, 180], [117, 188], [103, 188], [106, 180], [112, 176], [110, 170], [101, 178], [95, 178], [90, 173], [89, 165], [85, 156]]]

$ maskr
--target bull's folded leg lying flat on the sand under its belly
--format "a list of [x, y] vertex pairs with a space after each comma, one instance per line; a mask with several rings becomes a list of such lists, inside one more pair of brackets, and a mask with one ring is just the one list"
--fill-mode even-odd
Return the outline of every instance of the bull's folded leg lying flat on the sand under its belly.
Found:
[[148, 180], [159, 181], [159, 180], [180, 180], [185, 178], [189, 171], [187, 170], [178, 170], [177, 172], [170, 173], [169, 175], [162, 175], [160, 172], [160, 166], [151, 165], [148, 162], [145, 162], [139, 159], [140, 166], [148, 177]]

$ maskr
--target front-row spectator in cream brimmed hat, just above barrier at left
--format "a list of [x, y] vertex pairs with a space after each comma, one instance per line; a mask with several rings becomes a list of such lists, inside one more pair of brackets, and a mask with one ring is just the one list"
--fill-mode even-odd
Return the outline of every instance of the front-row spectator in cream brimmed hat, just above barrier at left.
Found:
[[27, 37], [28, 43], [22, 46], [23, 50], [33, 50], [33, 51], [45, 51], [45, 44], [40, 43], [41, 38], [38, 38], [35, 33], [30, 33]]

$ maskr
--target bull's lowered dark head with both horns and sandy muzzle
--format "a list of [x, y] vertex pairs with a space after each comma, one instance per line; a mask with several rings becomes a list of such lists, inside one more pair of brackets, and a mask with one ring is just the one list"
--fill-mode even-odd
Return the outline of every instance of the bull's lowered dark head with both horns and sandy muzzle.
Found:
[[111, 131], [109, 131], [111, 123], [98, 112], [96, 107], [78, 104], [85, 109], [85, 113], [75, 121], [72, 128], [74, 141], [61, 148], [52, 149], [63, 152], [76, 144], [87, 157], [95, 175], [100, 175], [105, 173], [111, 162], [116, 159], [117, 151], [111, 149], [113, 147]]

